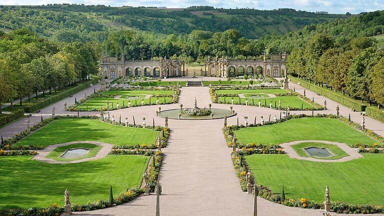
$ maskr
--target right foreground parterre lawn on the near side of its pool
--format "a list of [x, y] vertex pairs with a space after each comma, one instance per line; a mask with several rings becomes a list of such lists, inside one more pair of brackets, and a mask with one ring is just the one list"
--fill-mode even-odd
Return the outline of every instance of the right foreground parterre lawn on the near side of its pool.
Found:
[[[324, 201], [325, 186], [330, 200], [351, 204], [384, 203], [384, 154], [363, 153], [363, 158], [346, 162], [313, 162], [289, 158], [284, 154], [245, 156], [257, 183], [285, 196]], [[254, 175], [253, 175], [254, 176]]]

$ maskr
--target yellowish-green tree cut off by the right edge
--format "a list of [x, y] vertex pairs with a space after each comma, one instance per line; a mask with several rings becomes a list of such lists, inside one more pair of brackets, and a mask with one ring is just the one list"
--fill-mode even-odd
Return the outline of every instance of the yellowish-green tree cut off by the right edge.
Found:
[[384, 104], [384, 57], [381, 57], [380, 61], [374, 65], [373, 72], [371, 73], [372, 84], [370, 91], [372, 92], [372, 98], [379, 104]]

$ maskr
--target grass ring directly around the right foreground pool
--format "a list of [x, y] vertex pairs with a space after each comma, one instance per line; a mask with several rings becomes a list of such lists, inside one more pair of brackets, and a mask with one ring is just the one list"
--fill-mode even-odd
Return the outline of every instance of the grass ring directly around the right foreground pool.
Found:
[[[344, 156], [349, 156], [349, 154], [345, 153], [341, 148], [339, 148], [335, 144], [326, 144], [321, 142], [301, 142], [298, 144], [291, 145], [291, 147], [297, 152], [299, 156], [304, 157], [313, 157], [313, 158], [319, 158], [319, 159], [338, 159]], [[320, 148], [326, 148], [329, 151], [331, 151], [334, 155], [330, 157], [315, 157], [315, 156], [309, 156], [304, 148], [307, 147], [320, 147]]]

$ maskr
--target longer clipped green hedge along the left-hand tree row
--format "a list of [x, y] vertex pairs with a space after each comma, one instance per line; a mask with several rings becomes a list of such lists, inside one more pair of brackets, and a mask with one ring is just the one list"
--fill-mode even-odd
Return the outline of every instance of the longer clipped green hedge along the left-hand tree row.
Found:
[[34, 103], [34, 104], [30, 104], [30, 105], [25, 105], [24, 106], [24, 111], [25, 112], [33, 112], [33, 111], [36, 111], [37, 109], [40, 109], [42, 107], [45, 107], [47, 105], [50, 105], [54, 102], [57, 102], [61, 99], [64, 99], [65, 97], [69, 96], [69, 95], [72, 95], [74, 93], [77, 93], [78, 91], [82, 90], [82, 89], [85, 89], [87, 87], [90, 86], [90, 84], [95, 84], [98, 82], [98, 79], [95, 78], [95, 79], [91, 79], [91, 80], [88, 80], [84, 83], [81, 83], [81, 84], [78, 84], [74, 87], [71, 87], [67, 90], [64, 90], [60, 93], [57, 93], [56, 95], [53, 95], [49, 98], [46, 98], [46, 99], [39, 99], [38, 102]]

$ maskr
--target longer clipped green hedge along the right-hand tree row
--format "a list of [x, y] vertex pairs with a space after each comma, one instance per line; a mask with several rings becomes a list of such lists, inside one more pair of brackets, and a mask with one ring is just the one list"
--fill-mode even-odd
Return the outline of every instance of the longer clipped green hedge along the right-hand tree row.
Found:
[[309, 90], [314, 91], [316, 93], [319, 93], [325, 97], [328, 97], [329, 99], [334, 100], [334, 101], [336, 101], [336, 102], [338, 102], [344, 106], [347, 106], [349, 108], [353, 108], [357, 111], [365, 111], [366, 105], [361, 103], [359, 100], [349, 98], [348, 96], [340, 95], [337, 92], [328, 90], [326, 88], [317, 86], [317, 85], [309, 83], [309, 82], [304, 82], [305, 80], [301, 79], [301, 78], [293, 77], [291, 75], [288, 75], [288, 77], [290, 78], [291, 81], [296, 82], [296, 83], [300, 82], [300, 85], [303, 87], [306, 87], [306, 88], [308, 88], [308, 86], [310, 86]]

